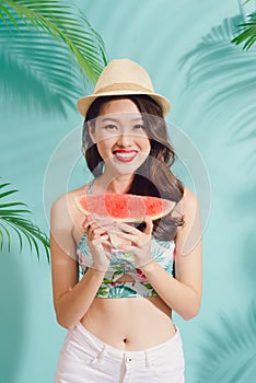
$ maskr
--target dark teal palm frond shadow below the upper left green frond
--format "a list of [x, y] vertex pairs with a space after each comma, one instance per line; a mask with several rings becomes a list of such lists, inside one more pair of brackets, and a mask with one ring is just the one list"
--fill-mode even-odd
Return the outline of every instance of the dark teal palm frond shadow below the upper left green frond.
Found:
[[[32, 108], [47, 114], [66, 115], [66, 106], [82, 93], [78, 67], [72, 66], [67, 49], [34, 31], [12, 34], [0, 32], [0, 86], [2, 104], [15, 111]], [[3, 39], [2, 39], [3, 38]]]

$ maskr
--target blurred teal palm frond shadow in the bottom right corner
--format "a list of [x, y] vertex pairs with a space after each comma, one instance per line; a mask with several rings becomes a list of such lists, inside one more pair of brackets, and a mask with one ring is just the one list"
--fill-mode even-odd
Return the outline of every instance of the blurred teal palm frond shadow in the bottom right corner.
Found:
[[218, 329], [205, 328], [193, 362], [197, 383], [254, 382], [256, 302], [252, 302], [247, 312], [222, 315]]

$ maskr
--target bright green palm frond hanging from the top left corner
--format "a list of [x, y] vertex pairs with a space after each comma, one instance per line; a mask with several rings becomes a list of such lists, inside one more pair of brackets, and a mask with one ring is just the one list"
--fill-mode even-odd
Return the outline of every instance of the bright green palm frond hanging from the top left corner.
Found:
[[[103, 42], [84, 15], [81, 14], [81, 18], [78, 18], [70, 3], [58, 0], [3, 0], [2, 3], [7, 5], [5, 10], [9, 13], [11, 10], [16, 13], [27, 27], [43, 30], [57, 40], [65, 42], [86, 77], [92, 82], [97, 80], [103, 63], [105, 65], [106, 56], [98, 56], [98, 50], [105, 51]], [[3, 9], [2, 13], [4, 13]], [[7, 20], [8, 13], [4, 16]], [[9, 21], [13, 24], [11, 19]]]

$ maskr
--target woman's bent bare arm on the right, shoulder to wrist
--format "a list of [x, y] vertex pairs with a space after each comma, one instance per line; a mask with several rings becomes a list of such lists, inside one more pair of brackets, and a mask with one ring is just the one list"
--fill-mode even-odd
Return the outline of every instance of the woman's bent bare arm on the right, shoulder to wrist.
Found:
[[197, 198], [186, 188], [181, 207], [184, 224], [176, 235], [175, 278], [155, 260], [142, 271], [163, 301], [190, 320], [198, 314], [201, 301], [201, 224]]

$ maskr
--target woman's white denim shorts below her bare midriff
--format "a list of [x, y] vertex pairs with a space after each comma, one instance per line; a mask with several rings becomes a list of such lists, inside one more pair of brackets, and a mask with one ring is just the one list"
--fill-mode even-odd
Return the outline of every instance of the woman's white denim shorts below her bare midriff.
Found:
[[60, 351], [55, 383], [184, 383], [178, 328], [167, 341], [141, 351], [106, 345], [81, 323], [70, 329]]

